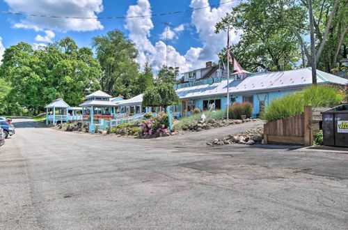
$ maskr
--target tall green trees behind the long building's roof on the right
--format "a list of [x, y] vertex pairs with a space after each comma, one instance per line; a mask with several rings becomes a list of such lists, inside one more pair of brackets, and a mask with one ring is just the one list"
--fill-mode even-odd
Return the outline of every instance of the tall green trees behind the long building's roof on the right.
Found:
[[[348, 1], [313, 0], [317, 69], [330, 72], [347, 57]], [[216, 24], [216, 33], [230, 26], [241, 33], [230, 52], [244, 69], [291, 70], [310, 66], [307, 0], [246, 0]], [[227, 61], [226, 48], [219, 57]]]

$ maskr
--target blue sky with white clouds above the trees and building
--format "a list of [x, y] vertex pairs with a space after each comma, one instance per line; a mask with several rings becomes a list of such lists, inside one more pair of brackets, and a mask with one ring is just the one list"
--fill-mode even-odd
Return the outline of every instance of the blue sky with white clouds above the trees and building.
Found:
[[[19, 42], [34, 48], [69, 36], [79, 47], [91, 47], [91, 39], [119, 29], [136, 43], [143, 66], [146, 60], [155, 70], [166, 63], [166, 25], [169, 66], [180, 72], [205, 67], [206, 61], [218, 61], [217, 53], [226, 46], [227, 34], [214, 33], [214, 25], [237, 1], [230, 0], [0, 0], [0, 11], [69, 17], [129, 17], [153, 15], [219, 6], [165, 16], [112, 20], [62, 19], [0, 13], [0, 56], [6, 47]], [[226, 3], [228, 2], [228, 3]], [[232, 31], [231, 43], [239, 36]], [[0, 57], [1, 59], [1, 57]]]

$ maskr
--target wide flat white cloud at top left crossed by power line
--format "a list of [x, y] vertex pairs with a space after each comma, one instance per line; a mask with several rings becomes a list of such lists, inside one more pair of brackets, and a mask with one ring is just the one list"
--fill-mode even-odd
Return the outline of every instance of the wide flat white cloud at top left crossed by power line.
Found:
[[[102, 0], [4, 0], [10, 10], [38, 15], [56, 15], [70, 17], [96, 17], [102, 12]], [[93, 31], [104, 26], [96, 19], [62, 19], [49, 17], [25, 17], [14, 24], [15, 28], [44, 29], [56, 31]]]

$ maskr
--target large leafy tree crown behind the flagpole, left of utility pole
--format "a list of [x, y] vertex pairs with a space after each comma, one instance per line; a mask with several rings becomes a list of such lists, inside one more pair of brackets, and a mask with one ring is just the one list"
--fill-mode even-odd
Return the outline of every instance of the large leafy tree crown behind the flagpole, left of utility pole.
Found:
[[[299, 61], [296, 38], [272, 16], [271, 5], [271, 0], [239, 3], [216, 24], [216, 33], [227, 31], [228, 26], [242, 31], [239, 43], [232, 45], [230, 52], [246, 70], [253, 71], [258, 66], [289, 70]], [[224, 48], [219, 54], [224, 63], [227, 63], [226, 51]]]

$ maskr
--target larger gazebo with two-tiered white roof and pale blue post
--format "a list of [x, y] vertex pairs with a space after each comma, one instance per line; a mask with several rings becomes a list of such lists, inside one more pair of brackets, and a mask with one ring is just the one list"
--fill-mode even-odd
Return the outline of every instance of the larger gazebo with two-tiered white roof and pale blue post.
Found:
[[95, 91], [90, 95], [86, 95], [86, 101], [80, 106], [82, 107], [82, 115], [85, 119], [90, 120], [90, 132], [94, 131], [95, 119], [110, 120], [116, 114], [116, 103], [111, 101], [112, 96], [103, 91]]

